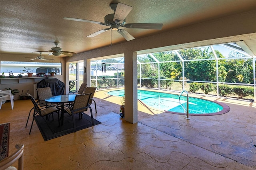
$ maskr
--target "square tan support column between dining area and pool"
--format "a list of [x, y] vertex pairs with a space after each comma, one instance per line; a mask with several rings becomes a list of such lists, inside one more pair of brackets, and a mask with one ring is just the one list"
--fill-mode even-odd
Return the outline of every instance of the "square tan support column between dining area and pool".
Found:
[[138, 122], [137, 52], [124, 53], [125, 116], [130, 123]]

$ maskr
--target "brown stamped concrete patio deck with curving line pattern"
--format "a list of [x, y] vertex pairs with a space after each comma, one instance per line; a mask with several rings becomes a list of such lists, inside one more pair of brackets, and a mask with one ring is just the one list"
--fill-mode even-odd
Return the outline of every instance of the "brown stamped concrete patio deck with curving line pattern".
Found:
[[[216, 116], [176, 115], [138, 103], [138, 123], [120, 118], [118, 97], [97, 91], [100, 125], [44, 141], [36, 126], [25, 128], [30, 100], [2, 105], [1, 123], [10, 122], [10, 153], [25, 145], [24, 169], [207, 169], [256, 168], [256, 103], [201, 96], [230, 111]], [[31, 120], [29, 122], [29, 126]], [[15, 164], [14, 164], [15, 165]]]

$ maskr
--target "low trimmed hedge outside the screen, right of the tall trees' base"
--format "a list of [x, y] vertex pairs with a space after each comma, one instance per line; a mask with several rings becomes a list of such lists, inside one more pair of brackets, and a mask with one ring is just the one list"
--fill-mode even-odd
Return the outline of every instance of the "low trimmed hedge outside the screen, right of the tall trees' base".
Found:
[[[205, 94], [211, 91], [217, 91], [217, 85], [212, 83], [190, 83], [189, 90], [195, 93], [197, 90], [201, 89]], [[219, 95], [238, 95], [238, 98], [242, 99], [246, 96], [254, 95], [254, 88], [250, 86], [238, 86], [238, 85], [219, 85]]]

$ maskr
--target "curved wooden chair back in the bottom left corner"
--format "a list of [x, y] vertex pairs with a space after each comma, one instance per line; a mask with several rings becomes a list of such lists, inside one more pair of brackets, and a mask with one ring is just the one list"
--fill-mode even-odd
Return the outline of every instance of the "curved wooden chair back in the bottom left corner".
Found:
[[14, 162], [18, 160], [18, 169], [23, 170], [23, 151], [24, 151], [24, 145], [23, 144], [16, 144], [16, 150], [13, 152], [10, 156], [7, 158], [4, 158], [0, 162], [0, 169], [5, 170], [5, 169], [10, 169], [10, 170], [17, 170], [16, 167], [12, 166]]

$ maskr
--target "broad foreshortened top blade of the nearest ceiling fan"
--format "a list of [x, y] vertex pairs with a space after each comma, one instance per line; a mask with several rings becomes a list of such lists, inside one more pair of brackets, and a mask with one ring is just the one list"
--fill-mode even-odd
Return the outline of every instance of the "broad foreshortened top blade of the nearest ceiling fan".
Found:
[[122, 23], [126, 18], [126, 16], [131, 12], [131, 10], [132, 10], [132, 6], [118, 3], [116, 6], [113, 21], [116, 22], [116, 24]]

